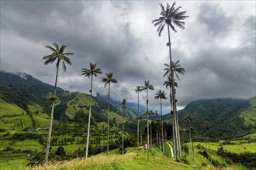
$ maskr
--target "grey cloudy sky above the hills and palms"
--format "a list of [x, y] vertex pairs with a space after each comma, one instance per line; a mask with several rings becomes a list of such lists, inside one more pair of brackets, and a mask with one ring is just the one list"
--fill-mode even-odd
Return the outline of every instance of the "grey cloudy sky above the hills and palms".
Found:
[[[97, 63], [93, 95], [107, 95], [102, 78], [113, 73], [110, 97], [137, 103], [137, 86], [146, 80], [149, 104], [159, 108], [157, 90], [168, 90], [164, 63], [169, 63], [168, 29], [158, 36], [152, 24], [160, 3], [173, 1], [5, 1], [1, 0], [1, 70], [28, 73], [54, 85], [56, 63], [44, 65], [45, 46], [66, 45], [72, 65], [60, 70], [57, 86], [89, 93], [90, 79], [81, 68]], [[255, 1], [176, 1], [186, 11], [185, 29], [171, 31], [173, 61], [180, 61], [178, 109], [193, 100], [256, 96]], [[168, 97], [168, 95], [167, 95]], [[146, 105], [146, 91], [140, 93]], [[164, 112], [169, 102], [163, 101]]]

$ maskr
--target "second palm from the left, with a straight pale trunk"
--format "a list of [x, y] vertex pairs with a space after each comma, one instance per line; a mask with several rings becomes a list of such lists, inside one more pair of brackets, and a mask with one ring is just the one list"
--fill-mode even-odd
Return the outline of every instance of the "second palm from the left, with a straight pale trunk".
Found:
[[90, 109], [89, 109], [89, 117], [88, 117], [88, 130], [87, 130], [85, 158], [88, 157], [88, 148], [89, 148], [91, 111], [92, 111], [92, 77], [97, 76], [97, 74], [102, 73], [101, 69], [96, 68], [96, 66], [97, 66], [97, 63], [90, 63], [90, 69], [81, 69], [82, 75], [88, 76], [88, 78], [90, 78], [90, 76], [91, 76]]

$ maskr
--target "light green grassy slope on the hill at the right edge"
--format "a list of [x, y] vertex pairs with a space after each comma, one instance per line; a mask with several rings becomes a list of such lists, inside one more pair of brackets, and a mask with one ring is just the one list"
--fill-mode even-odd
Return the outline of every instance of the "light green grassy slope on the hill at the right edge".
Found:
[[250, 100], [251, 106], [244, 110], [240, 117], [244, 117], [245, 124], [249, 125], [256, 125], [256, 97]]

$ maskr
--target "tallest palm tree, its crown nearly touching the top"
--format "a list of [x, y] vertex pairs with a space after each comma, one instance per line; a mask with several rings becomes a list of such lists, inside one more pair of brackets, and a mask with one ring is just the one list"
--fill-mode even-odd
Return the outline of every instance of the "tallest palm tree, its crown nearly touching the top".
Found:
[[[171, 68], [171, 35], [170, 35], [170, 27], [173, 31], [177, 32], [175, 29], [175, 26], [178, 26], [178, 28], [180, 29], [185, 29], [185, 22], [182, 22], [182, 20], [188, 18], [188, 16], [185, 16], [186, 11], [184, 12], [179, 12], [180, 8], [182, 8], [181, 6], [179, 6], [178, 8], [175, 8], [176, 3], [174, 2], [171, 7], [170, 5], [166, 5], [166, 8], [164, 8], [164, 5], [160, 4], [161, 6], [161, 13], [160, 13], [160, 17], [158, 19], [154, 19], [152, 21], [152, 23], [154, 24], [154, 26], [158, 26], [157, 28], [157, 32], [158, 32], [158, 36], [161, 36], [161, 32], [164, 30], [164, 26], [167, 25], [168, 26], [168, 47], [169, 47], [169, 54], [170, 54], [170, 76], [171, 76], [171, 93], [170, 93], [170, 97], [172, 94], [172, 101], [173, 104], [171, 106], [171, 111], [173, 111], [174, 113], [174, 127], [175, 127], [175, 145], [176, 145], [176, 149], [175, 149], [175, 159], [178, 159], [178, 154], [180, 155], [180, 158], [182, 158], [182, 152], [180, 149], [180, 142], [178, 142], [178, 131], [177, 131], [177, 122], [178, 122], [178, 117], [177, 117], [177, 110], [175, 109], [175, 86], [174, 86], [174, 72]], [[171, 100], [171, 98], [170, 98]]]

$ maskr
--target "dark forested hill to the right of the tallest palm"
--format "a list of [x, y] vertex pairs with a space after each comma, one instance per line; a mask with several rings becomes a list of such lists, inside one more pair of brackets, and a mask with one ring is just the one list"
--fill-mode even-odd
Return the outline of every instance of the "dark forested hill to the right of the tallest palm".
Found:
[[[238, 138], [250, 132], [255, 132], [256, 98], [250, 100], [241, 99], [210, 99], [195, 100], [183, 110], [178, 111], [178, 120], [181, 128], [188, 128], [184, 117], [190, 114], [193, 117], [191, 124], [195, 128], [195, 138], [203, 138], [209, 134], [214, 140]], [[170, 118], [170, 114], [165, 115]], [[203, 124], [209, 123], [209, 131]]]

